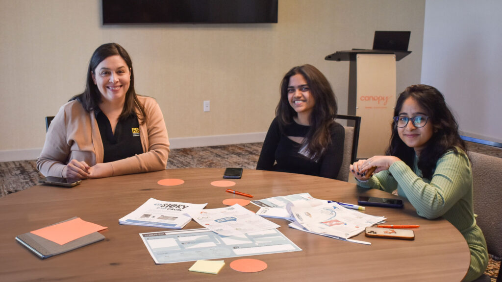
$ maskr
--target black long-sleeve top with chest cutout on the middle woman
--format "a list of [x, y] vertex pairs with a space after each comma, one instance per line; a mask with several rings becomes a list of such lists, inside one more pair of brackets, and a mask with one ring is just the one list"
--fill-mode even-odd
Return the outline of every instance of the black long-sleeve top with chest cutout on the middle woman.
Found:
[[256, 169], [336, 179], [343, 158], [345, 138], [343, 126], [333, 123], [330, 128], [331, 144], [317, 162], [300, 154], [302, 145], [288, 138], [288, 136], [305, 137], [309, 129], [310, 126], [293, 122], [284, 128], [284, 132], [281, 132], [277, 117], [274, 118], [265, 137]]

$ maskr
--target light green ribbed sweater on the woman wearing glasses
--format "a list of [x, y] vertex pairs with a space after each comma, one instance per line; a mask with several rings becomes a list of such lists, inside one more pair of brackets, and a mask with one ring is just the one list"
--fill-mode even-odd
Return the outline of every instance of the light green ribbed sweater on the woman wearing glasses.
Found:
[[395, 162], [387, 171], [381, 171], [358, 186], [376, 188], [410, 201], [417, 214], [434, 219], [443, 217], [455, 226], [469, 245], [471, 263], [464, 281], [481, 275], [488, 264], [488, 252], [483, 232], [476, 225], [472, 203], [472, 172], [467, 155], [449, 151], [437, 162], [431, 180], [422, 178], [415, 157], [413, 170], [403, 161]]

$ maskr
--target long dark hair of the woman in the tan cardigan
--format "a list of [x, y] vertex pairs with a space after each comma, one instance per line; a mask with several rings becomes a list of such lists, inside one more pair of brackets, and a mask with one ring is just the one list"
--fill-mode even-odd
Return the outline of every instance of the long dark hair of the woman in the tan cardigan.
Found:
[[124, 61], [126, 61], [126, 64], [131, 72], [131, 82], [129, 83], [129, 89], [126, 93], [126, 101], [124, 102], [122, 112], [120, 113], [118, 119], [124, 119], [129, 117], [131, 114], [136, 113], [135, 108], [137, 107], [140, 113], [138, 118], [141, 123], [144, 123], [147, 119], [147, 114], [145, 112], [145, 107], [138, 100], [138, 96], [134, 90], [133, 62], [126, 49], [123, 49], [122, 46], [116, 43], [103, 44], [99, 46], [94, 53], [92, 53], [92, 57], [89, 61], [89, 68], [87, 69], [87, 82], [85, 90], [83, 93], [76, 95], [72, 99], [78, 99], [86, 111], [90, 112], [91, 110], [98, 108], [98, 105], [101, 102], [101, 93], [92, 80], [92, 74], [99, 63], [101, 63], [104, 59], [115, 55], [119, 55]]

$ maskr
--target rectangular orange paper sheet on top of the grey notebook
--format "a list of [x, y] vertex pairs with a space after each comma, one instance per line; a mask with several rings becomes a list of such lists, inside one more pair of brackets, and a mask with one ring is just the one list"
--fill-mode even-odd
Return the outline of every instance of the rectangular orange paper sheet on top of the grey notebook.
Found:
[[63, 245], [106, 228], [108, 227], [84, 221], [80, 217], [77, 217], [72, 220], [31, 231], [31, 233]]

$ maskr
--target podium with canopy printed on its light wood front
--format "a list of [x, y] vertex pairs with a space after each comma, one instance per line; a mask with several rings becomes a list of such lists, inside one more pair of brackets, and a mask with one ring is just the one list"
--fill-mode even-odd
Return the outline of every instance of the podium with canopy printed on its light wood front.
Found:
[[350, 62], [347, 114], [361, 117], [357, 159], [385, 154], [396, 104], [396, 61], [410, 53], [353, 49], [325, 57]]

